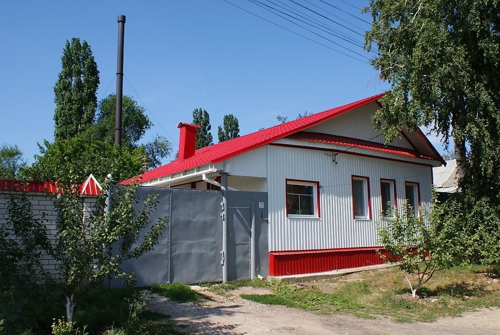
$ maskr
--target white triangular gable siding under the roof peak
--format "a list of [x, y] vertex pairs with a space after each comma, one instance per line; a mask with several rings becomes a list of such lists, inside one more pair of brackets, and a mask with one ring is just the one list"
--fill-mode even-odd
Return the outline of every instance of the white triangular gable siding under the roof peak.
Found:
[[[305, 131], [332, 135], [348, 136], [377, 143], [384, 143], [383, 135], [377, 136], [370, 118], [375, 110], [379, 109], [375, 102], [358, 107], [348, 113], [339, 115], [331, 120], [312, 126]], [[411, 145], [402, 137], [394, 138], [390, 143], [396, 147], [412, 149]]]

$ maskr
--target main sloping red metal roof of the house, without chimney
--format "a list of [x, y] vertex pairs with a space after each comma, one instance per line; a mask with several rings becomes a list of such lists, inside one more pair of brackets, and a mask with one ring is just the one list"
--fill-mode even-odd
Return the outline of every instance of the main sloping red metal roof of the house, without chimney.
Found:
[[[378, 99], [383, 97], [384, 94], [385, 93], [377, 94], [372, 97], [365, 98], [347, 105], [336, 107], [324, 112], [312, 114], [274, 127], [263, 129], [248, 135], [236, 137], [228, 141], [220, 142], [217, 144], [210, 145], [208, 147], [198, 149], [195, 151], [192, 157], [183, 160], [177, 159], [174, 160], [173, 162], [170, 162], [168, 164], [165, 164], [163, 166], [160, 166], [158, 168], [152, 169], [150, 171], [141, 174], [139, 176], [138, 181], [140, 183], [143, 183], [155, 178], [161, 178], [197, 166], [205, 165], [211, 162], [212, 163], [221, 162], [228, 158], [239, 155], [243, 152], [261, 147], [273, 141], [279, 140], [291, 134], [302, 131], [306, 128], [327, 121], [331, 118], [334, 118], [350, 110], [353, 110], [357, 107], [377, 101]], [[417, 132], [421, 133], [420, 130], [417, 130]], [[417, 132], [415, 132], [415, 134], [417, 134]], [[416, 138], [418, 138], [418, 140], [421, 141], [419, 135], [416, 135]], [[424, 135], [423, 138], [425, 138]], [[422, 143], [423, 143], [422, 146], [424, 146], [425, 147], [424, 149], [430, 153], [429, 156], [432, 157], [432, 159], [438, 161], [442, 160], [441, 156], [435, 151], [430, 142], [427, 141]], [[430, 145], [431, 149], [427, 148], [427, 145]], [[425, 154], [427, 154], [427, 152], [425, 152]], [[434, 152], [435, 154], [437, 154], [437, 156], [434, 154]], [[137, 178], [129, 178], [127, 180], [120, 182], [120, 184], [127, 184], [134, 180], [137, 180]]]

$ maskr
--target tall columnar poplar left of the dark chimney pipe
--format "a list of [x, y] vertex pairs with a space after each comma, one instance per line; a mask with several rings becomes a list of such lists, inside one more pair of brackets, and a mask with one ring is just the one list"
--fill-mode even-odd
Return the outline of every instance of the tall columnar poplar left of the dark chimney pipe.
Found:
[[54, 86], [56, 104], [54, 137], [66, 139], [84, 131], [92, 124], [99, 85], [99, 72], [86, 41], [66, 41], [62, 70]]

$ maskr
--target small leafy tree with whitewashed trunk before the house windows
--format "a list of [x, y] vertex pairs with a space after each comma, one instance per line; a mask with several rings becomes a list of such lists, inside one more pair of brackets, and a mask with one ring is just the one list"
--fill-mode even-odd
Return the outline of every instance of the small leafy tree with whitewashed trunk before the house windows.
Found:
[[[401, 210], [401, 212], [399, 212]], [[466, 247], [463, 214], [460, 206], [434, 206], [430, 215], [420, 208], [419, 217], [413, 208], [404, 203], [402, 208], [390, 209], [392, 219], [380, 218], [377, 241], [389, 255], [380, 254], [388, 263], [397, 263], [405, 272], [411, 296], [425, 284], [435, 271], [450, 268], [463, 262]], [[416, 274], [417, 282], [411, 283], [408, 274]]]

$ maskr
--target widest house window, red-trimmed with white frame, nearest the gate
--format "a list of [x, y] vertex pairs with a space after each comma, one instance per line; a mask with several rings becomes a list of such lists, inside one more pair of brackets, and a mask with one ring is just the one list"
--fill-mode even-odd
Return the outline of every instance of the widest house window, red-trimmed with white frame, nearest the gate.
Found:
[[286, 179], [286, 215], [288, 217], [319, 217], [316, 181]]

